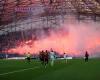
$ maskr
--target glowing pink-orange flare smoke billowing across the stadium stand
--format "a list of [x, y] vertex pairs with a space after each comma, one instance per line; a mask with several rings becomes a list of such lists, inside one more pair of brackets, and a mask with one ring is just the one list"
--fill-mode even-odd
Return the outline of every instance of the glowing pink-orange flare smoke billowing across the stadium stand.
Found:
[[98, 22], [68, 19], [61, 26], [54, 30], [50, 29], [47, 33], [48, 35], [44, 30], [36, 32], [37, 40], [20, 42], [7, 52], [38, 54], [41, 50], [52, 48], [60, 54], [66, 52], [71, 56], [83, 56], [87, 50], [91, 56], [100, 57], [100, 23]]

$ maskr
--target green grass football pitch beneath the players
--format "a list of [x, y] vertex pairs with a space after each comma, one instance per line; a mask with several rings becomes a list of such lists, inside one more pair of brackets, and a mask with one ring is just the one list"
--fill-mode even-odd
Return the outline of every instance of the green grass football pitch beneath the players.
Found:
[[56, 60], [46, 68], [35, 60], [0, 60], [0, 80], [100, 80], [100, 59]]

